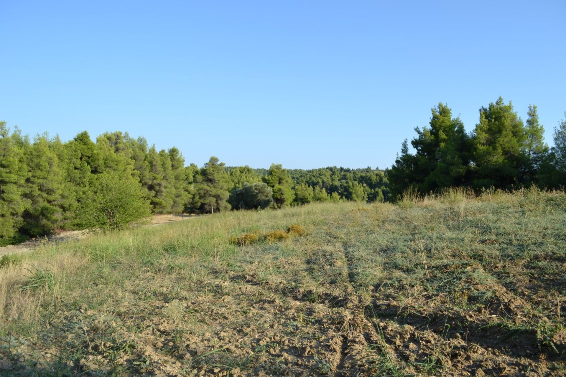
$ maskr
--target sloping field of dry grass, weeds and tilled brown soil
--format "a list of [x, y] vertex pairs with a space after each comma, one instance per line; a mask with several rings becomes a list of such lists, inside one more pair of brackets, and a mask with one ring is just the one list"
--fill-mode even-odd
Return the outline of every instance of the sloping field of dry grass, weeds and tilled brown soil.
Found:
[[561, 192], [221, 213], [0, 263], [3, 375], [566, 375]]

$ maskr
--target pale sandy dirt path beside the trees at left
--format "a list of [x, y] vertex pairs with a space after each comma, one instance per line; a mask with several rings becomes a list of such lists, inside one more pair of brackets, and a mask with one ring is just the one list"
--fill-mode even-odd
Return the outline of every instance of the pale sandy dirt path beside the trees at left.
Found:
[[[191, 218], [195, 218], [195, 217], [196, 217], [196, 215], [185, 215], [185, 214], [181, 214], [181, 215], [155, 215], [155, 216], [152, 216], [151, 223], [149, 223], [148, 226], [158, 226], [158, 225], [167, 224], [167, 223], [170, 223], [170, 222], [177, 222], [177, 221], [187, 220], [187, 219], [191, 219]], [[30, 239], [28, 241], [22, 242], [22, 244], [4, 246], [4, 247], [0, 248], [0, 257], [2, 255], [6, 255], [6, 254], [27, 253], [27, 252], [30, 252], [31, 250], [35, 249], [35, 248], [38, 248], [40, 246], [47, 244], [49, 242], [59, 243], [59, 242], [65, 242], [65, 241], [70, 241], [70, 240], [80, 240], [80, 239], [84, 239], [84, 237], [87, 237], [87, 236], [88, 236], [88, 231], [82, 230], [82, 231], [63, 231], [61, 233], [56, 233], [56, 234], [50, 235], [50, 236], [35, 237], [35, 238]]]

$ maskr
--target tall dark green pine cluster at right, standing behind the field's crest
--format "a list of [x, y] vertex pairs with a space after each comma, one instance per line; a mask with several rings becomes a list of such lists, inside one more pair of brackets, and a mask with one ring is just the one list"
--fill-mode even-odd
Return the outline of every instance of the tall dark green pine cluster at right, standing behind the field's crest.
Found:
[[[475, 190], [516, 189], [530, 185], [563, 188], [566, 184], [566, 120], [554, 129], [552, 148], [544, 142], [537, 106], [530, 105], [527, 120], [503, 98], [479, 109], [479, 123], [466, 133], [460, 118], [443, 103], [432, 109], [428, 127], [415, 128], [387, 171], [391, 198], [405, 190], [437, 192], [448, 187]], [[565, 112], [566, 115], [566, 112]]]

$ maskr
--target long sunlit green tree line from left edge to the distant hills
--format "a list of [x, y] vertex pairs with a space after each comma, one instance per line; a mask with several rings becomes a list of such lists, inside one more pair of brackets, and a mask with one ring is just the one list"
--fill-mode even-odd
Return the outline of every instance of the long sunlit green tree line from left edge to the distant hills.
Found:
[[383, 171], [186, 166], [143, 137], [80, 132], [30, 138], [0, 122], [0, 245], [63, 229], [120, 228], [151, 214], [215, 213], [324, 201], [383, 201]]

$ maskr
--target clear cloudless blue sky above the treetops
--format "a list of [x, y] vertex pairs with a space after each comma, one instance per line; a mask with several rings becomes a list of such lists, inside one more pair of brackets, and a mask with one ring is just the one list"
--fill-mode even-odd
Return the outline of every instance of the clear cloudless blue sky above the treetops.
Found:
[[546, 141], [566, 111], [566, 1], [0, 0], [0, 120], [177, 146], [199, 166], [391, 166], [439, 101], [502, 96]]

